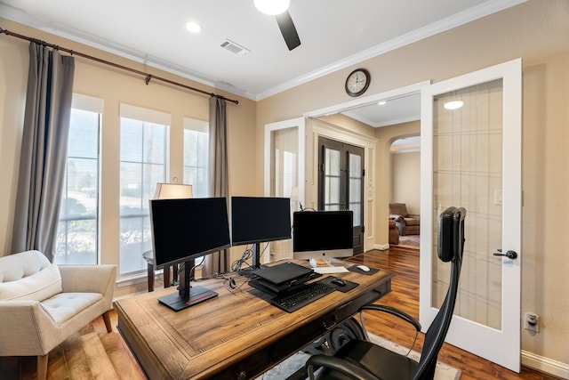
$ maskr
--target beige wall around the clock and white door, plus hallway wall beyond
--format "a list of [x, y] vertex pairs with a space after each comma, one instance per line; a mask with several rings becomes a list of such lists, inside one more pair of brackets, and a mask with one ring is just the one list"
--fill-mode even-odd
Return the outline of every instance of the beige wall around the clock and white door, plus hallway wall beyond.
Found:
[[[349, 101], [344, 81], [352, 69], [372, 74], [366, 93], [382, 93], [430, 80], [433, 83], [504, 61], [523, 59], [522, 311], [541, 316], [541, 331], [522, 330], [522, 349], [569, 366], [569, 3], [532, 0], [418, 43], [320, 77], [259, 101], [263, 125], [300, 117]], [[379, 128], [375, 187], [377, 244], [387, 243], [389, 147], [397, 135]], [[416, 133], [416, 131], [413, 131]], [[409, 133], [405, 131], [401, 134]], [[257, 157], [262, 158], [259, 149]], [[259, 178], [259, 176], [258, 176]], [[383, 182], [382, 182], [383, 181]], [[382, 225], [383, 219], [386, 222]]]

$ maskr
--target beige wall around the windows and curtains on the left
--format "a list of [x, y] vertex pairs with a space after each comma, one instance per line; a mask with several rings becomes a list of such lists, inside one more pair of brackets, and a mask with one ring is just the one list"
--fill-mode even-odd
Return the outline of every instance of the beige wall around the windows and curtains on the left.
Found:
[[[157, 69], [148, 69], [141, 64], [102, 53], [82, 44], [47, 35], [36, 29], [0, 19], [2, 28], [24, 36], [34, 36], [52, 44], [60, 44], [76, 52], [87, 53], [125, 66], [152, 72], [212, 93], [213, 88], [197, 84]], [[12, 219], [20, 160], [21, 125], [26, 98], [28, 77], [28, 42], [12, 36], [0, 37], [0, 255], [10, 253], [12, 240]], [[170, 179], [182, 178], [183, 117], [201, 120], [209, 118], [209, 97], [192, 93], [180, 87], [161, 85], [144, 77], [113, 69], [99, 63], [76, 58], [74, 92], [83, 93], [104, 100], [101, 135], [100, 182], [100, 250], [105, 252], [106, 263], [118, 263], [119, 255], [119, 104], [157, 109], [172, 115], [170, 128]], [[238, 105], [228, 102], [228, 161], [229, 191], [236, 195], [257, 195], [262, 191], [254, 186], [255, 172], [249, 170], [256, 165], [255, 109], [256, 104], [230, 93], [220, 93], [239, 101]], [[246, 147], [246, 148], [244, 148]], [[232, 256], [240, 256], [243, 249], [232, 249]], [[145, 282], [135, 288], [120, 287], [116, 294], [143, 290]]]

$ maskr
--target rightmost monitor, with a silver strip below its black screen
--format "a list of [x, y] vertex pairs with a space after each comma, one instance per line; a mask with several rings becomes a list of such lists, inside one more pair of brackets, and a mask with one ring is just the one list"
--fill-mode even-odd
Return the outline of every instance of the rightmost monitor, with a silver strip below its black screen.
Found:
[[354, 255], [351, 211], [298, 211], [293, 215], [293, 258], [300, 260]]

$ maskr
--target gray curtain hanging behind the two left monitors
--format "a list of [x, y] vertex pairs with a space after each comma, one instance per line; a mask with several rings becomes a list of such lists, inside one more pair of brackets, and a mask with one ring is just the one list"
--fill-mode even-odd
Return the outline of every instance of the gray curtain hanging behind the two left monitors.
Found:
[[[229, 194], [228, 144], [227, 144], [226, 101], [218, 96], [210, 98], [210, 152], [209, 188], [211, 197], [225, 197]], [[229, 271], [229, 250], [224, 249], [205, 255], [202, 276]]]

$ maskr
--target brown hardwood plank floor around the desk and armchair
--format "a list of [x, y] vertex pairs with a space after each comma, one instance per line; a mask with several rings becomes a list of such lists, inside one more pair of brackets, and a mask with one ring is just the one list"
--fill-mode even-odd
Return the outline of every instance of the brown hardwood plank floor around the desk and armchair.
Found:
[[[369, 251], [349, 259], [354, 263], [365, 263], [372, 267], [384, 268], [397, 273], [392, 279], [392, 292], [381, 298], [380, 302], [418, 317], [419, 315], [419, 255], [415, 250], [391, 248], [388, 251]], [[379, 314], [379, 313], [376, 313]], [[397, 344], [410, 346], [414, 330], [396, 318], [366, 314], [366, 327], [369, 331], [383, 336]], [[112, 325], [116, 326], [116, 313], [111, 313]], [[421, 351], [422, 336], [414, 349]], [[501, 368], [469, 352], [464, 352], [450, 344], [445, 344], [438, 359], [461, 368], [461, 380], [479, 379], [528, 379], [556, 380], [557, 377], [542, 374], [530, 368], [522, 368], [520, 374]], [[35, 358], [0, 358], [0, 378], [35, 379]], [[95, 319], [77, 334], [50, 352], [48, 379], [132, 379], [146, 377], [140, 370], [132, 353], [122, 337], [113, 327], [108, 334], [101, 318]]]

